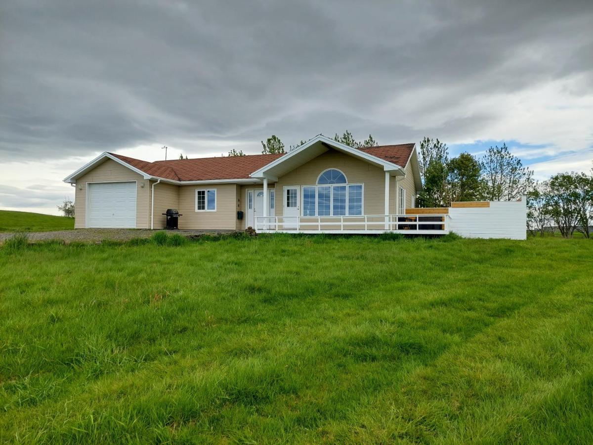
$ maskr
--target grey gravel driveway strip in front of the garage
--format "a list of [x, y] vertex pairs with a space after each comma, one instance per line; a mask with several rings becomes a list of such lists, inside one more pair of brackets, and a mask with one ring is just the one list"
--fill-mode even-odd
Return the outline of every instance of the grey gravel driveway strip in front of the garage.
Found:
[[[56, 230], [52, 232], [27, 232], [29, 241], [35, 243], [43, 240], [63, 240], [66, 244], [72, 241], [79, 243], [93, 243], [101, 240], [127, 241], [133, 238], [148, 238], [158, 230], [127, 229], [127, 228], [79, 228], [76, 230]], [[183, 236], [203, 234], [232, 233], [232, 230], [175, 230]], [[14, 236], [14, 233], [0, 233], [0, 243]]]

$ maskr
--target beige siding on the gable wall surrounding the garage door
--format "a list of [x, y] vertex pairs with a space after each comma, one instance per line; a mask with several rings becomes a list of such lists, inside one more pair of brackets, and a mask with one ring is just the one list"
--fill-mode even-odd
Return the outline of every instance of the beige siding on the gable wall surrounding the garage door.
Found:
[[74, 227], [85, 227], [87, 183], [111, 181], [136, 181], [136, 228], [150, 228], [148, 180], [144, 179], [141, 174], [135, 173], [111, 159], [107, 159], [76, 180]]

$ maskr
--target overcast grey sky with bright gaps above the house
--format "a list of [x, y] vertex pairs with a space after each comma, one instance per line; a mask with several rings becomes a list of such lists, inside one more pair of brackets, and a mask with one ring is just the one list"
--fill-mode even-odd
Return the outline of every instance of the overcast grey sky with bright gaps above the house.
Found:
[[[482, 4], [480, 4], [482, 3]], [[0, 208], [57, 213], [103, 151], [261, 152], [349, 129], [593, 167], [593, 1], [0, 4]]]

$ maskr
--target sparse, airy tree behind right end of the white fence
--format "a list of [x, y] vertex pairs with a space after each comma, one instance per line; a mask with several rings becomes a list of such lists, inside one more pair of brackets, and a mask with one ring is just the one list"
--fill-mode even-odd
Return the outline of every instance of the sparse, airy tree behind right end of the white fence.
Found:
[[533, 170], [523, 167], [506, 144], [490, 147], [480, 158], [484, 198], [489, 201], [513, 201], [533, 188]]

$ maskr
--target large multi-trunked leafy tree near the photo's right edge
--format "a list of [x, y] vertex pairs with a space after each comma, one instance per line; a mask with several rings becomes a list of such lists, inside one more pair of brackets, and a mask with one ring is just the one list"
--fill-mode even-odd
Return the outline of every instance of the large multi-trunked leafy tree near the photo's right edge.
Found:
[[546, 205], [554, 224], [565, 238], [572, 237], [576, 226], [582, 222], [581, 202], [584, 197], [579, 190], [582, 173], [558, 173], [547, 182]]

